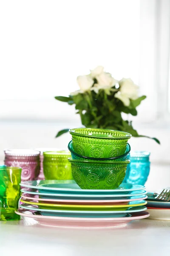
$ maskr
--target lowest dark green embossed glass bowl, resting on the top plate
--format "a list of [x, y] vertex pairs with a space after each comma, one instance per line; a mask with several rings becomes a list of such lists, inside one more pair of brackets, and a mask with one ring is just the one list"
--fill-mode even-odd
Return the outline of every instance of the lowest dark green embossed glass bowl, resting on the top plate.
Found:
[[125, 161], [74, 160], [72, 175], [81, 189], [116, 189], [124, 180], [127, 164]]

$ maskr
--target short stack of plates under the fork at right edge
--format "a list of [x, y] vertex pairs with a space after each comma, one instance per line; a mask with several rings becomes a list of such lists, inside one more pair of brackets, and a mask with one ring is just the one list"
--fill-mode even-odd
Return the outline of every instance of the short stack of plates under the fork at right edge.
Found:
[[[161, 191], [158, 192], [160, 194]], [[150, 218], [155, 220], [170, 221], [170, 202], [155, 198], [153, 193], [148, 193], [147, 207]]]

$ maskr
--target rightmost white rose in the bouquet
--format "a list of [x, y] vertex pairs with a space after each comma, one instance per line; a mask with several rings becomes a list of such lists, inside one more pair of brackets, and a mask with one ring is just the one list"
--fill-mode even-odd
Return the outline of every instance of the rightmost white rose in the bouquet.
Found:
[[115, 98], [120, 99], [125, 106], [130, 105], [130, 99], [138, 98], [139, 87], [130, 78], [120, 80], [119, 86], [120, 90], [115, 94]]

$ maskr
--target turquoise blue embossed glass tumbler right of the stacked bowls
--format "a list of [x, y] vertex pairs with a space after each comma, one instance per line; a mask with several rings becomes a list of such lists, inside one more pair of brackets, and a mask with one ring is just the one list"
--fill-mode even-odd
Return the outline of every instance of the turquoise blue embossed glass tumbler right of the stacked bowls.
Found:
[[130, 164], [127, 166], [124, 183], [144, 185], [150, 172], [150, 152], [131, 151], [127, 158]]

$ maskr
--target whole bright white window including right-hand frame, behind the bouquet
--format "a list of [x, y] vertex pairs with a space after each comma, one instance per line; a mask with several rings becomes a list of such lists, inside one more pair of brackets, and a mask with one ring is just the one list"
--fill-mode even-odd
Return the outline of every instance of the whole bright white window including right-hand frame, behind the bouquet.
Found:
[[3, 1], [0, 24], [1, 119], [76, 118], [54, 96], [97, 65], [140, 85], [135, 119], [169, 118], [169, 0]]

